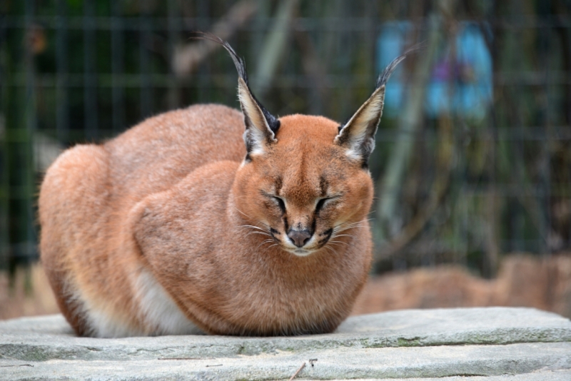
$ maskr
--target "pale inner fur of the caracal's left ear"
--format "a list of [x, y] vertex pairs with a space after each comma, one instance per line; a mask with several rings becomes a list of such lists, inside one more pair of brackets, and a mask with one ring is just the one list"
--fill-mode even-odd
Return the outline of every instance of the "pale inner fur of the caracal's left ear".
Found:
[[263, 154], [268, 143], [277, 141], [276, 134], [271, 130], [266, 116], [242, 78], [238, 78], [238, 99], [246, 123], [244, 132], [246, 149], [251, 155]]

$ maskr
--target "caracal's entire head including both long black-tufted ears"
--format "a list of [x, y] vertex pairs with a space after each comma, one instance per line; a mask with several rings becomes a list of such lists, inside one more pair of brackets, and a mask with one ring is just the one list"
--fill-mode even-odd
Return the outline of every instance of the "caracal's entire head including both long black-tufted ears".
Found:
[[[260, 234], [298, 256], [347, 245], [373, 200], [368, 158], [383, 112], [385, 83], [404, 55], [379, 76], [375, 91], [344, 124], [322, 116], [276, 118], [253, 96], [242, 60], [222, 44], [238, 69], [246, 158], [236, 175], [233, 205], [244, 234]], [[337, 239], [335, 239], [337, 238]]]

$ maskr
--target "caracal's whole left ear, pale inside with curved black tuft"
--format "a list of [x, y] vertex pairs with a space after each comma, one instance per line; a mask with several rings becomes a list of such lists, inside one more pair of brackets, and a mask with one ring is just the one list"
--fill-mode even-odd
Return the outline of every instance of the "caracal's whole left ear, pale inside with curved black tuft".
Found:
[[248, 86], [248, 74], [243, 60], [232, 49], [228, 42], [223, 41], [213, 34], [199, 33], [199, 38], [214, 41], [221, 44], [230, 54], [236, 70], [238, 71], [238, 99], [244, 114], [244, 142], [246, 143], [246, 161], [251, 160], [251, 156], [263, 154], [268, 146], [276, 143], [276, 133], [280, 128], [278, 118], [269, 113], [268, 110], [256, 99]]

